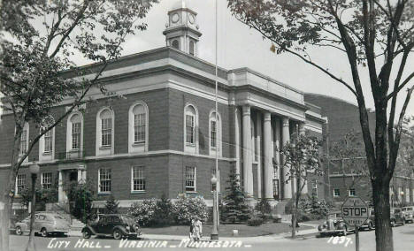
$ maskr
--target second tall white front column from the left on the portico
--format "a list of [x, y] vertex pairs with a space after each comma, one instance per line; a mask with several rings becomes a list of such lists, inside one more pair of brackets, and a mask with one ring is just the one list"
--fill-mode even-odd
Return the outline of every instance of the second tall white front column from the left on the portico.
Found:
[[265, 181], [265, 198], [272, 199], [272, 125], [271, 125], [271, 113], [265, 111], [263, 119], [263, 150], [264, 150], [264, 181]]

